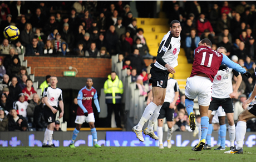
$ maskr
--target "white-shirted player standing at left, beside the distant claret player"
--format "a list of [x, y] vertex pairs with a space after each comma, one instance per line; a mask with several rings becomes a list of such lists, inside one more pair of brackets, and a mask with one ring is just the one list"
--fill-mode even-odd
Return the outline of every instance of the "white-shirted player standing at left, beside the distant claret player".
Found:
[[[55, 145], [52, 143], [53, 130], [55, 128], [55, 118], [57, 113], [58, 103], [61, 108], [60, 117], [64, 114], [64, 104], [62, 99], [62, 90], [57, 88], [57, 77], [52, 76], [50, 78], [51, 85], [43, 91], [43, 101], [45, 102], [45, 107], [43, 107], [43, 117], [45, 117], [46, 123], [48, 123], [45, 130], [45, 138], [43, 139], [43, 148], [54, 148]], [[48, 145], [47, 145], [48, 141]]]

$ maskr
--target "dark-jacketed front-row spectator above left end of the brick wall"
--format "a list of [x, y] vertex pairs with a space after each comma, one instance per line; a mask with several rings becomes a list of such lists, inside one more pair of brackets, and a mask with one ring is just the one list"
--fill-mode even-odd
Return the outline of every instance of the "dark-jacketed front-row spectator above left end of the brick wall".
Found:
[[37, 38], [33, 38], [31, 44], [27, 45], [26, 55], [42, 55], [43, 46], [41, 45], [41, 43], [38, 43]]

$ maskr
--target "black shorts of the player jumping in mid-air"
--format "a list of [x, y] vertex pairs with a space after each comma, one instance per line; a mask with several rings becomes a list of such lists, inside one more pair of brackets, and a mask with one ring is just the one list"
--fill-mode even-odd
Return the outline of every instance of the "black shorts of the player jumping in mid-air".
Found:
[[166, 88], [168, 75], [170, 73], [167, 70], [162, 70], [155, 67], [154, 64], [151, 64], [150, 66], [152, 68], [150, 69], [151, 78], [149, 79], [149, 83], [152, 83], [152, 87]]

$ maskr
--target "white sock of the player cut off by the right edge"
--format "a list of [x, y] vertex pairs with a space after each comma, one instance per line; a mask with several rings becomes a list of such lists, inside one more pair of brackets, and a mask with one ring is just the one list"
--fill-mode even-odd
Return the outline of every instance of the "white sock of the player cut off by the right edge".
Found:
[[237, 141], [236, 149], [237, 150], [243, 148], [245, 133], [246, 133], [246, 122], [238, 121], [237, 129], [235, 129], [235, 136], [237, 136], [237, 139], [236, 139], [236, 141]]

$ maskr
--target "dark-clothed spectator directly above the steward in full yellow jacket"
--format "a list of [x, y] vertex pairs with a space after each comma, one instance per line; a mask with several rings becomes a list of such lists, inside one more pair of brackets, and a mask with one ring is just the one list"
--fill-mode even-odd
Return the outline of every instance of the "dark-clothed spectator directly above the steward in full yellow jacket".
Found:
[[109, 30], [106, 33], [105, 39], [107, 42], [107, 45], [106, 45], [107, 51], [109, 51], [111, 55], [116, 54], [116, 44], [119, 38], [117, 36], [114, 26], [109, 27]]

